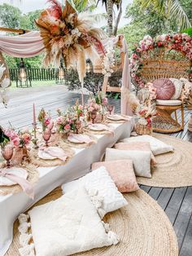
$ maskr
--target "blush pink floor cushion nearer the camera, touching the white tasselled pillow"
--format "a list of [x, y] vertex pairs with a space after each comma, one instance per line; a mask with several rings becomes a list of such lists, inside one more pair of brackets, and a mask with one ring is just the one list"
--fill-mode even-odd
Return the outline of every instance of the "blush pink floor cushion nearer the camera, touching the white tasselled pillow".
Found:
[[100, 166], [106, 168], [120, 192], [133, 192], [139, 189], [132, 160], [99, 161], [92, 165], [92, 170]]

